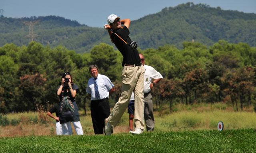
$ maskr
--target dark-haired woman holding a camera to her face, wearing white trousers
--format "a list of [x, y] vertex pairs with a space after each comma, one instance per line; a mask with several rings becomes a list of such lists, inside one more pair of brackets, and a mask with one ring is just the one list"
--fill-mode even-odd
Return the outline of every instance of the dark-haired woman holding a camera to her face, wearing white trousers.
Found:
[[78, 86], [72, 82], [72, 76], [69, 72], [63, 73], [60, 86], [57, 89], [57, 95], [60, 98], [60, 124], [63, 135], [71, 135], [72, 128], [70, 122], [73, 122], [77, 135], [83, 135], [83, 129], [80, 123], [78, 106], [75, 101]]

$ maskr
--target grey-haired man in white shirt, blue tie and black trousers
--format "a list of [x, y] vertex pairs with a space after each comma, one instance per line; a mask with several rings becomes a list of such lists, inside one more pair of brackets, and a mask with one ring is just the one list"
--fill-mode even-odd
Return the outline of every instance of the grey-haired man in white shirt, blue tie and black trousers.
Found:
[[86, 92], [91, 95], [91, 116], [95, 134], [103, 134], [104, 119], [110, 115], [109, 95], [114, 84], [105, 75], [98, 74], [98, 66], [90, 65], [92, 77], [88, 80]]

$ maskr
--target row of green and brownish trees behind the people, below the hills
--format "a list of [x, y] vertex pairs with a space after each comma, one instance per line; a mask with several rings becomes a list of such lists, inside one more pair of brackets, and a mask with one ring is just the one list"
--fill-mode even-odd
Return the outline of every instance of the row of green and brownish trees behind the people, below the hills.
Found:
[[[163, 75], [152, 92], [156, 104], [170, 104], [170, 111], [176, 103], [225, 102], [238, 110], [256, 102], [256, 48], [247, 43], [220, 40], [206, 47], [184, 42], [182, 49], [163, 45], [139, 52], [144, 54], [147, 65]], [[90, 102], [86, 95], [90, 64], [97, 64], [100, 73], [114, 82], [117, 91], [110, 98], [114, 105], [121, 92], [121, 62], [119, 51], [106, 43], [84, 54], [62, 45], [6, 44], [0, 47], [0, 112], [35, 111], [37, 104], [58, 102], [56, 89], [66, 71], [80, 87], [76, 101], [86, 111]]]

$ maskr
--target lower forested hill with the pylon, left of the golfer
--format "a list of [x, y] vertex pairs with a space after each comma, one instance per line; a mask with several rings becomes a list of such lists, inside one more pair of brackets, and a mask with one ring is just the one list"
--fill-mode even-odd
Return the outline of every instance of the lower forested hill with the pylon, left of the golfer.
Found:
[[52, 47], [64, 45], [78, 53], [88, 52], [93, 45], [100, 43], [102, 35], [106, 35], [102, 28], [88, 27], [76, 21], [62, 17], [46, 16], [31, 18], [0, 18], [0, 45], [14, 43], [27, 45], [29, 43], [28, 25], [24, 22], [39, 21], [33, 26], [35, 41]]

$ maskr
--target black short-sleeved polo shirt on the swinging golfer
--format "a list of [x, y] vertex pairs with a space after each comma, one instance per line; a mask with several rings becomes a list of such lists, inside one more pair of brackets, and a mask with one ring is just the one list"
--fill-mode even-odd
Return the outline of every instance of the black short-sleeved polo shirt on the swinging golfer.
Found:
[[[122, 26], [120, 29], [116, 29], [114, 32], [118, 34], [122, 39], [124, 39], [126, 43], [130, 44], [132, 42], [132, 40], [129, 37], [130, 31], [126, 26]], [[114, 44], [116, 45], [116, 48], [123, 55], [123, 62], [122, 62], [123, 67], [124, 67], [124, 64], [134, 65], [141, 62], [137, 49], [132, 49], [131, 47], [129, 47], [128, 44], [122, 41], [114, 33], [112, 33], [111, 38]]]

